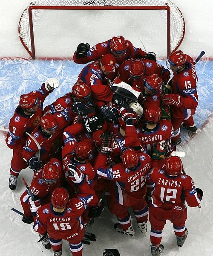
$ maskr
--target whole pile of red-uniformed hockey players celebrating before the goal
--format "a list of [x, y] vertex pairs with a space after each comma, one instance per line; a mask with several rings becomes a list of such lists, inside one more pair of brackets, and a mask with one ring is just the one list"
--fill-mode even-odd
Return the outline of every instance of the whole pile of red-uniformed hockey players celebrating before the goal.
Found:
[[[72, 91], [43, 108], [46, 96], [60, 85], [58, 79], [47, 79], [39, 89], [20, 96], [9, 123], [9, 188], [16, 189], [22, 169], [34, 171], [29, 187], [23, 179], [23, 222], [34, 222], [54, 256], [62, 255], [63, 239], [73, 256], [82, 256], [82, 243], [96, 239], [85, 229], [104, 204], [118, 219], [115, 231], [134, 237], [128, 212], [132, 207], [143, 235], [149, 215], [152, 256], [164, 250], [166, 220], [173, 223], [181, 247], [188, 233], [184, 202], [197, 207], [203, 195], [184, 173], [179, 157], [184, 152], [176, 151], [181, 128], [196, 132], [193, 59], [173, 52], [167, 59], [170, 78], [153, 52], [135, 48], [123, 36], [92, 48], [81, 43], [73, 59], [89, 64]], [[103, 254], [120, 255], [116, 249]]]

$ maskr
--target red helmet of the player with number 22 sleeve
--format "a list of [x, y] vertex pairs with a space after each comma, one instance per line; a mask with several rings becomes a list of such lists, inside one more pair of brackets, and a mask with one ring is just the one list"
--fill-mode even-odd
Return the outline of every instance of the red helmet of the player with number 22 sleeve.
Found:
[[59, 177], [59, 163], [47, 163], [42, 170], [42, 178], [46, 185], [52, 186], [57, 183]]

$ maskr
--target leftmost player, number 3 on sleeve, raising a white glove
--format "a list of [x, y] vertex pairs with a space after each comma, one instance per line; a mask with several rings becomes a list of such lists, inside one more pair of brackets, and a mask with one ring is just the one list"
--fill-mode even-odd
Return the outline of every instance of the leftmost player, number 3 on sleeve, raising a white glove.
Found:
[[16, 189], [20, 171], [27, 167], [22, 157], [23, 147], [28, 137], [26, 132], [31, 133], [39, 124], [46, 96], [59, 85], [58, 79], [47, 79], [38, 90], [20, 96], [19, 105], [10, 119], [6, 137], [7, 146], [13, 150], [9, 177], [9, 188], [12, 190]]

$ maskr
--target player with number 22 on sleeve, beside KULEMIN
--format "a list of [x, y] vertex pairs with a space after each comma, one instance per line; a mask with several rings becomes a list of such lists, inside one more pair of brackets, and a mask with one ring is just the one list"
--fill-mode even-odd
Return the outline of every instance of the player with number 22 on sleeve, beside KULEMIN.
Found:
[[46, 163], [35, 173], [29, 186], [33, 198], [31, 198], [27, 190], [20, 197], [24, 210], [23, 222], [32, 223], [32, 216], [36, 215], [40, 205], [50, 202], [53, 190], [60, 185], [61, 175], [62, 164], [56, 158], [52, 158], [49, 163]]

